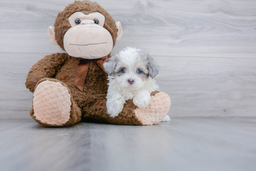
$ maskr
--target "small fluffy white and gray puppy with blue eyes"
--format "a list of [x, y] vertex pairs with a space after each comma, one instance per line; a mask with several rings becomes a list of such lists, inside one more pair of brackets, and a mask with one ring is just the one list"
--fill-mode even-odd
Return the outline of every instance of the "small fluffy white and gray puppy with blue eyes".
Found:
[[[159, 66], [149, 54], [140, 49], [127, 47], [103, 64], [108, 74], [107, 113], [116, 117], [124, 103], [133, 99], [139, 108], [149, 105], [150, 94], [158, 90], [154, 77]], [[167, 115], [163, 121], [170, 121]]]

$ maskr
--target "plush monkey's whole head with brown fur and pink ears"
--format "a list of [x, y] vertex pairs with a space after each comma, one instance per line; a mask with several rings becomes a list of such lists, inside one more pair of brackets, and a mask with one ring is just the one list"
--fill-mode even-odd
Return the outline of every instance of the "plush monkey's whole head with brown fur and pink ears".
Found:
[[115, 23], [99, 4], [90, 1], [69, 4], [54, 26], [48, 28], [51, 42], [70, 56], [85, 59], [107, 56], [122, 36], [120, 22]]

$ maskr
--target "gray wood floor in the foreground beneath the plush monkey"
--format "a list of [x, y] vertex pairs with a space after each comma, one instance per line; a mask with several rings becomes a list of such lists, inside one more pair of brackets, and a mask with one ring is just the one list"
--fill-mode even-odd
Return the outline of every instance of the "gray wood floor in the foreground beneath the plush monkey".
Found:
[[255, 144], [255, 117], [64, 128], [46, 128], [33, 119], [0, 119], [1, 170], [254, 171]]

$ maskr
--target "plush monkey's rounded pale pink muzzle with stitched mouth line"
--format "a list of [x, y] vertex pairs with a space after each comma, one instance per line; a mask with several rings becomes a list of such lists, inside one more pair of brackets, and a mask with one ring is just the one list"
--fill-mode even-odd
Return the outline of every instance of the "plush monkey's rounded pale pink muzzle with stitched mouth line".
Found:
[[64, 36], [64, 48], [70, 56], [97, 59], [110, 54], [113, 39], [109, 31], [100, 25], [91, 23], [93, 20], [83, 20], [71, 27]]

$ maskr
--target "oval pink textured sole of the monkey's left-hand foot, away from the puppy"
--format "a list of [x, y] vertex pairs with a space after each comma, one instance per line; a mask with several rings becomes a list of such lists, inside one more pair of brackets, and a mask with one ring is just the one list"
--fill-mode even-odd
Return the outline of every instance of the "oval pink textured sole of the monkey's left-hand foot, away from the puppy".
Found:
[[70, 118], [71, 95], [60, 82], [42, 81], [34, 92], [33, 108], [37, 120], [60, 126]]

